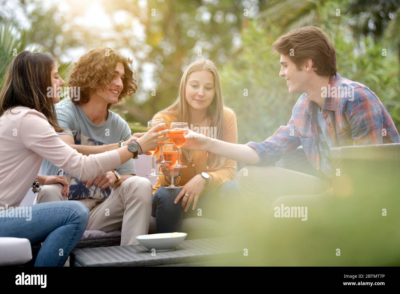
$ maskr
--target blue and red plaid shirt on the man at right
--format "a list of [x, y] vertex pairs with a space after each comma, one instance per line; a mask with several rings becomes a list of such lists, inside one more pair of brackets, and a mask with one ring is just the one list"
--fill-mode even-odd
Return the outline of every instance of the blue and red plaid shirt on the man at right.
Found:
[[[331, 92], [325, 99], [322, 112], [332, 147], [400, 142], [389, 112], [368, 87], [340, 74], [331, 76], [329, 83], [331, 89], [351, 89], [347, 97]], [[264, 142], [248, 142], [246, 145], [256, 150], [262, 159], [257, 165], [271, 165], [285, 152], [302, 145], [311, 165], [319, 170], [317, 105], [303, 93], [286, 126], [280, 126]]]

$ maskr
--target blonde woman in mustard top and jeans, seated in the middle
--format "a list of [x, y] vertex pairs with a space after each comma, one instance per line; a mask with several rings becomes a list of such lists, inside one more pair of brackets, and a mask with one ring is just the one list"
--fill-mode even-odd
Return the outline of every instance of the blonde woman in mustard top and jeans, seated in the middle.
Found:
[[[153, 119], [158, 118], [164, 119], [167, 128], [171, 122], [187, 122], [192, 130], [206, 130], [206, 136], [237, 144], [236, 116], [224, 106], [217, 68], [211, 60], [197, 60], [186, 68], [178, 97]], [[163, 175], [153, 187], [152, 216], [158, 233], [181, 232], [182, 219], [197, 216], [196, 208], [202, 208], [203, 217], [214, 218], [226, 201], [224, 191], [237, 190], [234, 160], [182, 149], [181, 161], [187, 168], [174, 169], [174, 185], [180, 189], [165, 188], [171, 184], [168, 164], [160, 167]]]

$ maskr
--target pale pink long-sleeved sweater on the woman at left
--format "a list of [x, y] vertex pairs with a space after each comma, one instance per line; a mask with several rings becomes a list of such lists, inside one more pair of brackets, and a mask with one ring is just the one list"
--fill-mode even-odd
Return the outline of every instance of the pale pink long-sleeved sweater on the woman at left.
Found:
[[0, 116], [0, 206], [20, 205], [43, 158], [82, 180], [92, 180], [121, 165], [117, 150], [80, 154], [58, 137], [42, 113], [14, 107]]

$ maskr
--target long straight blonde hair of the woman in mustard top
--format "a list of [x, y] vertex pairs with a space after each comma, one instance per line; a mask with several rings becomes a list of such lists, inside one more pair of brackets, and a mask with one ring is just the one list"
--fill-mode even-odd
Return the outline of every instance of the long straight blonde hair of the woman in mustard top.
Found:
[[[188, 102], [186, 101], [186, 81], [192, 72], [198, 70], [208, 70], [214, 76], [215, 95], [208, 107], [208, 115], [211, 118], [211, 127], [215, 127], [215, 139], [224, 140], [224, 99], [222, 97], [221, 83], [218, 76], [217, 67], [214, 62], [209, 59], [200, 59], [192, 62], [186, 67], [182, 78], [180, 79], [178, 96], [174, 103], [167, 108], [159, 111], [157, 114], [168, 114], [176, 119], [178, 122], [187, 122], [190, 127], [190, 112], [188, 109]], [[192, 150], [182, 149], [182, 156], [190, 162], [193, 158]], [[214, 162], [211, 163], [210, 169], [219, 169], [224, 165], [225, 157], [217, 156], [214, 154]]]

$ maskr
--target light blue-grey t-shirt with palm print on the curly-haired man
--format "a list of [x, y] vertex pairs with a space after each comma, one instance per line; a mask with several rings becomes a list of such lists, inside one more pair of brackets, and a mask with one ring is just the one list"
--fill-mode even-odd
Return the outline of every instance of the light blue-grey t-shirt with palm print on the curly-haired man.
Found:
[[[126, 141], [131, 136], [129, 125], [118, 114], [108, 110], [108, 118], [104, 124], [94, 124], [89, 120], [80, 105], [72, 102], [64, 102], [56, 107], [58, 124], [66, 131], [57, 133], [69, 134], [74, 137], [76, 145], [105, 145], [118, 143], [121, 140]], [[133, 158], [121, 164], [115, 169], [120, 174], [136, 174]], [[43, 160], [39, 174], [46, 176], [55, 176], [59, 174], [60, 168], [54, 166], [46, 159]], [[69, 199], [78, 198], [107, 198], [111, 194], [112, 187], [102, 190], [99, 187], [90, 186], [80, 179], [75, 178], [64, 172], [67, 181], [70, 183]], [[93, 179], [94, 180], [94, 179]]]

